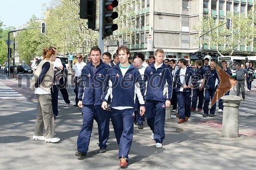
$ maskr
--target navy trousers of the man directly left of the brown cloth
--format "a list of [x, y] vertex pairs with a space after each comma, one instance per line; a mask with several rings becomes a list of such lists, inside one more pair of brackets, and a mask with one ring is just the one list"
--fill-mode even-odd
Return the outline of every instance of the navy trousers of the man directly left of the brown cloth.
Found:
[[[204, 114], [209, 114], [209, 102], [214, 99], [215, 89], [205, 89], [204, 99]], [[211, 105], [210, 114], [214, 114], [216, 110], [216, 103]]]

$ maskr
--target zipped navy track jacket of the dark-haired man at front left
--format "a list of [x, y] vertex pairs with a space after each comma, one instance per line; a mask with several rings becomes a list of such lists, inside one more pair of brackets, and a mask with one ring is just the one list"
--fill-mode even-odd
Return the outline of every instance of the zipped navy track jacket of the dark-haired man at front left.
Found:
[[95, 75], [93, 76], [92, 62], [85, 65], [82, 69], [81, 80], [79, 85], [78, 99], [83, 105], [101, 105], [101, 95], [103, 82], [111, 68], [100, 60]]

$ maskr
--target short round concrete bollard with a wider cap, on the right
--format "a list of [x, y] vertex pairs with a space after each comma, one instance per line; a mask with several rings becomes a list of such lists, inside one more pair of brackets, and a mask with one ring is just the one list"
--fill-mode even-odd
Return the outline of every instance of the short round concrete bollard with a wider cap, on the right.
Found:
[[242, 98], [236, 95], [225, 95], [223, 101], [222, 136], [238, 137], [239, 105]]

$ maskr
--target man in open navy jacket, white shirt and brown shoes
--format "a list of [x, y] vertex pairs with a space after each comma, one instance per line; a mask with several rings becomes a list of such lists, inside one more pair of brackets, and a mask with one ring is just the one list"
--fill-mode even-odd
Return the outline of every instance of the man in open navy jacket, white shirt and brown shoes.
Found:
[[196, 76], [193, 68], [186, 66], [185, 59], [178, 62], [179, 68], [174, 77], [174, 87], [176, 87], [177, 100], [179, 106], [178, 124], [188, 121], [190, 117], [191, 88], [196, 85]]

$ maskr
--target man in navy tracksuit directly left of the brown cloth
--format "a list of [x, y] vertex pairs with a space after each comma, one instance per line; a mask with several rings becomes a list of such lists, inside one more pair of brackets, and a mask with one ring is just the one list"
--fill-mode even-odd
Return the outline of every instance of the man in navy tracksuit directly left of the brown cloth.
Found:
[[219, 86], [220, 79], [218, 76], [218, 72], [215, 68], [215, 61], [210, 61], [210, 69], [206, 71], [205, 73], [205, 82], [204, 82], [204, 88], [205, 88], [205, 100], [204, 100], [204, 114], [203, 116], [210, 116], [214, 117], [214, 113], [216, 110], [216, 103], [211, 105], [210, 108], [210, 114], [209, 114], [209, 102], [214, 99], [214, 94]]

